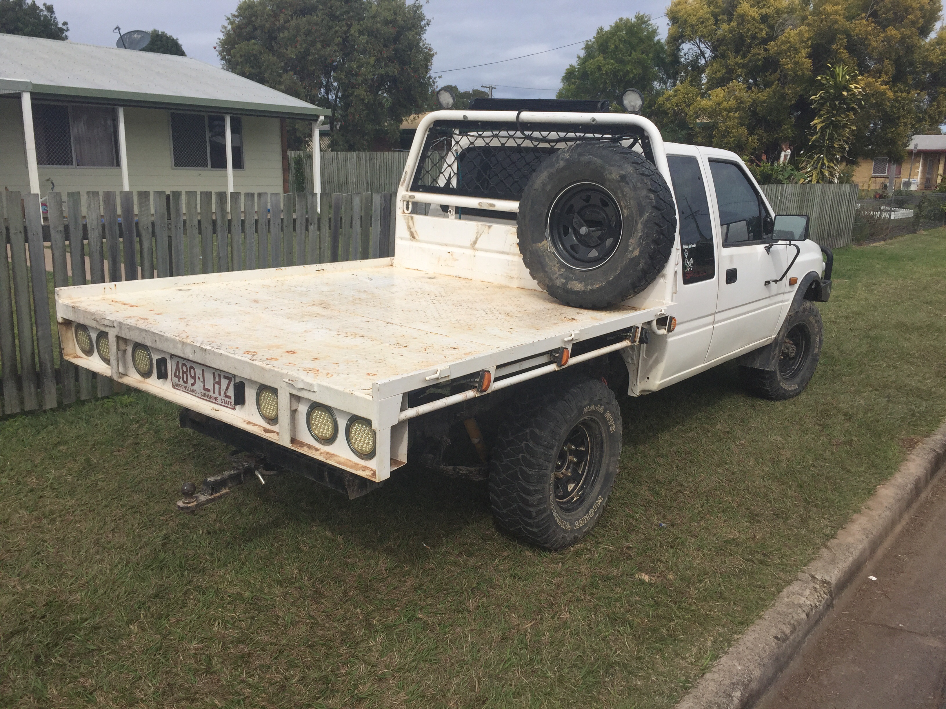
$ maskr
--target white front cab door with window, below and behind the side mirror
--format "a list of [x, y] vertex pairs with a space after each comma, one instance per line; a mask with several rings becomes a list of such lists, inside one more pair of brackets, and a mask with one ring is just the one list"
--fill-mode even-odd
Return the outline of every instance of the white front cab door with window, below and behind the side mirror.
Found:
[[765, 251], [763, 217], [770, 215], [745, 168], [711, 152], [709, 166], [720, 259], [708, 362], [775, 335], [787, 282], [765, 282], [780, 277], [788, 252], [785, 244]]

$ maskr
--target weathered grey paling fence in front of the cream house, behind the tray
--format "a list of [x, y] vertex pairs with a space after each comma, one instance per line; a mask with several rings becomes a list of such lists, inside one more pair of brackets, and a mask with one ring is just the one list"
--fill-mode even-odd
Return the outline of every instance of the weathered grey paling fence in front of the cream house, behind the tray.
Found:
[[391, 193], [50, 192], [46, 214], [40, 198], [0, 200], [0, 415], [114, 391], [61, 359], [54, 287], [394, 254]]

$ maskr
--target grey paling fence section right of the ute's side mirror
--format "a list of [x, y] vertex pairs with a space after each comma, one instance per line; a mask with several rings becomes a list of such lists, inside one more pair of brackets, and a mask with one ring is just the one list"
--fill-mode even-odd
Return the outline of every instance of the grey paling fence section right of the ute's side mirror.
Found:
[[776, 214], [808, 215], [809, 234], [815, 243], [837, 249], [851, 243], [856, 184], [762, 184], [762, 192]]

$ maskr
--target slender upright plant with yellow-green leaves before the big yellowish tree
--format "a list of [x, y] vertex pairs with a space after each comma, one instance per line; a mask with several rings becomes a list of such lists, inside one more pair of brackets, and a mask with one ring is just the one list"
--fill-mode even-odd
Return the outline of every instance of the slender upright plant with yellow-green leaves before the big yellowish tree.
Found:
[[828, 65], [818, 77], [821, 90], [812, 96], [814, 134], [801, 160], [804, 182], [838, 182], [857, 128], [856, 113], [864, 106], [864, 87], [857, 72], [844, 64]]

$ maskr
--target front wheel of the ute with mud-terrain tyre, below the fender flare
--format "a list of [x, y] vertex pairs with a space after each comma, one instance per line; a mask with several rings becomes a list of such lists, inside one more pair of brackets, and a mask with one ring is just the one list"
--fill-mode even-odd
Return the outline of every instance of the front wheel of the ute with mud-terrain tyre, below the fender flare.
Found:
[[811, 381], [821, 356], [824, 326], [815, 303], [802, 301], [781, 325], [775, 346], [779, 358], [774, 370], [740, 367], [745, 387], [756, 396], [782, 401], [797, 396]]

